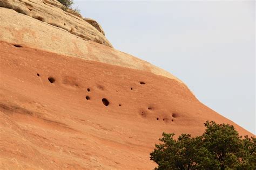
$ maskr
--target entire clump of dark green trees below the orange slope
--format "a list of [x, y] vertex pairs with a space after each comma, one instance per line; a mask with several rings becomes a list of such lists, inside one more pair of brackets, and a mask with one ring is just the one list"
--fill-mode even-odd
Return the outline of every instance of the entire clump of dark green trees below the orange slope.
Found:
[[156, 169], [255, 169], [256, 139], [241, 138], [232, 125], [206, 122], [203, 135], [192, 138], [163, 133], [150, 153]]

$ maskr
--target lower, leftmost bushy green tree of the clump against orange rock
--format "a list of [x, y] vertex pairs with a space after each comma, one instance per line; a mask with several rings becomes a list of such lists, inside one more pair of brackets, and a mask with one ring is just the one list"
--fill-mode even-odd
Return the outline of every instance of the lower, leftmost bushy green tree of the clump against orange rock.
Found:
[[150, 153], [150, 159], [158, 164], [156, 169], [211, 169], [214, 160], [203, 146], [202, 137], [191, 138], [190, 134], [181, 134], [178, 140], [174, 133], [163, 133], [159, 139], [163, 144], [156, 145]]

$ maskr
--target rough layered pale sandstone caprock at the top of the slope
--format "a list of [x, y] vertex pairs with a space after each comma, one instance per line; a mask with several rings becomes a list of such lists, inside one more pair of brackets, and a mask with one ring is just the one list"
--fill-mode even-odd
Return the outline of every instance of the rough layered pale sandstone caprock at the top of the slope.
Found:
[[79, 13], [65, 8], [57, 0], [1, 0], [0, 7], [13, 9], [26, 16], [62, 28], [83, 39], [112, 47], [104, 36], [104, 32], [98, 31], [100, 27], [98, 23], [95, 23], [97, 26], [95, 28]]

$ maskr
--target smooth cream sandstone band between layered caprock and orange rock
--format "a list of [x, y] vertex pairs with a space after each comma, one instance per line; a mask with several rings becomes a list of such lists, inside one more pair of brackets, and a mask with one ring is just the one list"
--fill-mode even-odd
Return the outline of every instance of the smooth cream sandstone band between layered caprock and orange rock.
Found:
[[86, 41], [63, 29], [40, 22], [14, 10], [0, 8], [0, 21], [0, 40], [11, 44], [104, 62], [110, 65], [145, 70], [178, 80], [177, 77], [151, 65], [149, 62], [96, 42]]

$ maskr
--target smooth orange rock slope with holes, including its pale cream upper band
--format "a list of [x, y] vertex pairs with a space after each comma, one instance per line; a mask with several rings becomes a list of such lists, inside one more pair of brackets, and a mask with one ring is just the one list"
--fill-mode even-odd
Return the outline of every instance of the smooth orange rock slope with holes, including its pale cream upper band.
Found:
[[0, 8], [0, 169], [152, 169], [162, 132], [207, 120], [253, 135], [170, 73]]

